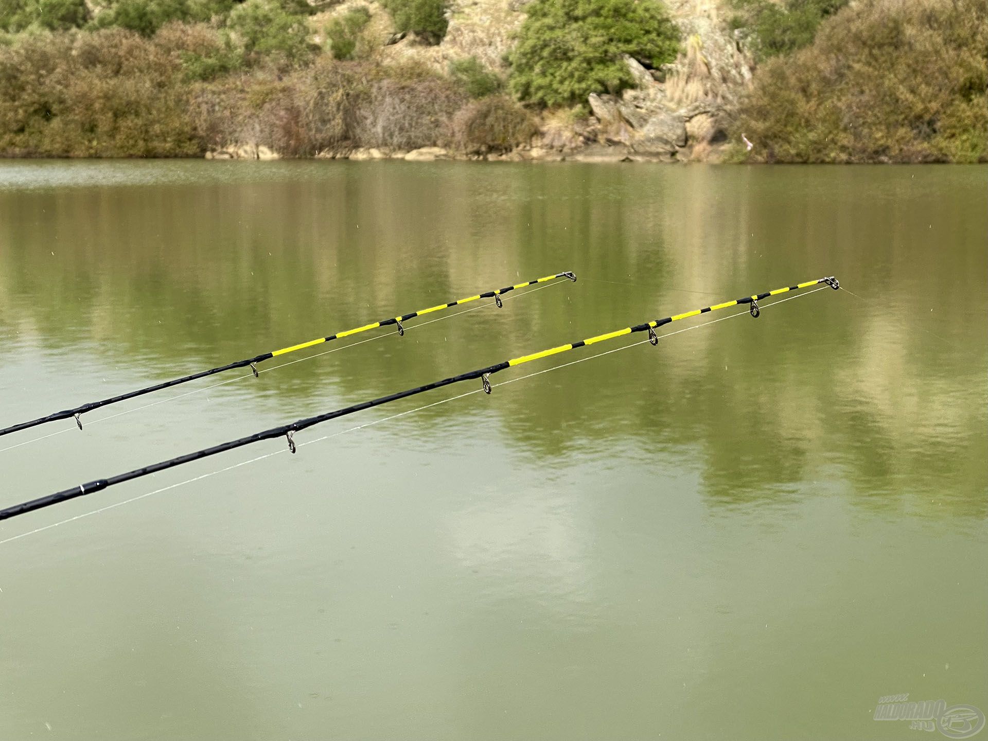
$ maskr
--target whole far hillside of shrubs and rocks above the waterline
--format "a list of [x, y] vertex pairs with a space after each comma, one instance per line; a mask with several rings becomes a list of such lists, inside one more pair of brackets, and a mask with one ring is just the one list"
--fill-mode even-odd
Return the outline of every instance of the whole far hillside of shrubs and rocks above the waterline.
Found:
[[[845, 6], [0, 0], [0, 153], [670, 162], [988, 156], [983, 7], [976, 0]], [[901, 33], [889, 37], [889, 27]], [[866, 61], [882, 42], [882, 74], [841, 58], [860, 50]], [[953, 72], [950, 58], [963, 60]], [[853, 72], [835, 85], [841, 70]], [[904, 75], [931, 80], [912, 108], [895, 97]], [[843, 140], [842, 126], [854, 127], [853, 102], [841, 96], [864, 89], [891, 101], [880, 120], [854, 128], [853, 146], [819, 144]], [[897, 120], [907, 108], [914, 118], [927, 115], [926, 128]], [[829, 112], [827, 125], [816, 110]], [[888, 137], [897, 143], [875, 143]]]

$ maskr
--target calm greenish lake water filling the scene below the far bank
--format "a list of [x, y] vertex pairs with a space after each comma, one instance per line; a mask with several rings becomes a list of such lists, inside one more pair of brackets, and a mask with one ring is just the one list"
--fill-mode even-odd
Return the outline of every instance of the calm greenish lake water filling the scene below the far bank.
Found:
[[988, 167], [0, 163], [0, 426], [567, 270], [0, 438], [0, 505], [754, 292], [857, 296], [0, 523], [0, 738], [899, 739], [881, 696], [988, 711]]

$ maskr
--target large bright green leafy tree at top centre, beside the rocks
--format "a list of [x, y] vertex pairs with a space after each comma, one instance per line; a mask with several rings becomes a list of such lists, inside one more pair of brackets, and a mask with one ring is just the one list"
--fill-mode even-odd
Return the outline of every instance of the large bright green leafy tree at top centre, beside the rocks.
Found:
[[628, 54], [657, 67], [676, 58], [679, 33], [655, 0], [533, 0], [509, 55], [511, 89], [541, 106], [585, 104], [634, 79]]

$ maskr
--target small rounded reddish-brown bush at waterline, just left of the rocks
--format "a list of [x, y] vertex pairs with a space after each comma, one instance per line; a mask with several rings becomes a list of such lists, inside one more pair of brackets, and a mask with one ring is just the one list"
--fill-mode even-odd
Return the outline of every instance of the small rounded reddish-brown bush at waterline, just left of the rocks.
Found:
[[527, 143], [537, 130], [528, 111], [500, 95], [472, 101], [453, 117], [456, 148], [474, 154], [509, 152]]

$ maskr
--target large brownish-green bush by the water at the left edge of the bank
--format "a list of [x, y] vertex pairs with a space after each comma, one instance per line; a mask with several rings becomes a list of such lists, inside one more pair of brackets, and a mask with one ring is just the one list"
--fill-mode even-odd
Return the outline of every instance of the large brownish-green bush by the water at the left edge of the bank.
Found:
[[201, 154], [178, 64], [120, 29], [0, 47], [0, 153], [46, 157]]

